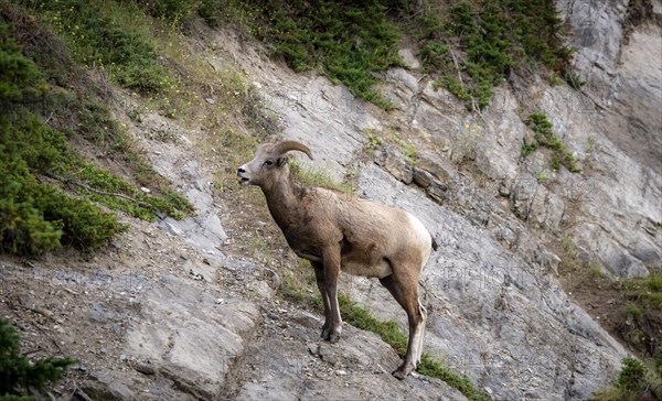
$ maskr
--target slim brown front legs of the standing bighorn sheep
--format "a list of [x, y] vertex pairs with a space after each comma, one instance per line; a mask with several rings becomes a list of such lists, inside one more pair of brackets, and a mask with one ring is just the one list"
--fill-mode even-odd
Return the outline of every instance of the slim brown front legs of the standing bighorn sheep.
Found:
[[[323, 291], [328, 299], [328, 311], [324, 312], [325, 322], [322, 328], [322, 338], [331, 343], [338, 343], [342, 333], [342, 318], [340, 317], [340, 306], [338, 305], [338, 277], [340, 275], [340, 246], [330, 247], [322, 251], [323, 265]], [[327, 305], [324, 305], [327, 306]]]

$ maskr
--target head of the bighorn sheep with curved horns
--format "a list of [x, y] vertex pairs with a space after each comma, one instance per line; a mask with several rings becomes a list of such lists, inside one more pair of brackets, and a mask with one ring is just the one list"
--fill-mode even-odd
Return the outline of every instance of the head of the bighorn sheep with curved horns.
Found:
[[289, 151], [303, 152], [312, 160], [312, 152], [307, 145], [297, 141], [263, 143], [257, 147], [255, 158], [237, 170], [239, 184], [264, 187], [266, 183], [287, 175], [287, 155]]

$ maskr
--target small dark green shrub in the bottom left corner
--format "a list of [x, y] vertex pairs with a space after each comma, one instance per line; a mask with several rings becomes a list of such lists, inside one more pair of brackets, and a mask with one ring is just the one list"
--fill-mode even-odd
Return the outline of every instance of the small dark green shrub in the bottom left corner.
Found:
[[45, 358], [30, 362], [20, 355], [21, 338], [11, 324], [0, 319], [0, 399], [35, 400], [20, 397], [32, 389], [43, 392], [64, 377], [66, 368], [75, 360], [71, 358]]

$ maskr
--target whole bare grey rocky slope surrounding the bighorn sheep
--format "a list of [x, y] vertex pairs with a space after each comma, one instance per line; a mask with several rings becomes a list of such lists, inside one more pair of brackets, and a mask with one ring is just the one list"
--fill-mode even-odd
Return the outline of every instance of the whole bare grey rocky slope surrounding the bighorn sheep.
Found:
[[[403, 55], [412, 68], [384, 76], [398, 105], [387, 113], [323, 77], [292, 73], [236, 32], [205, 30], [212, 45], [201, 45], [212, 65], [235, 65], [256, 83], [282, 136], [311, 147], [314, 166], [425, 223], [440, 245], [421, 279], [426, 350], [496, 399], [585, 399], [627, 355], [564, 292], [549, 243], [567, 238], [611, 275], [645, 275], [662, 258], [662, 8], [638, 20], [624, 0], [558, 7], [587, 86], [512, 76], [481, 115], [433, 89], [410, 48]], [[537, 110], [581, 174], [551, 171], [542, 154], [521, 160], [523, 120]], [[131, 220], [129, 234], [89, 261], [2, 261], [0, 307], [26, 322], [25, 347], [82, 361], [54, 397], [463, 399], [438, 380], [394, 380], [397, 356], [373, 334], [345, 326], [339, 344], [320, 342], [320, 316], [278, 300], [281, 278], [236, 256], [227, 226], [249, 212], [210, 184], [214, 161], [195, 145], [204, 133], [157, 115], [126, 123], [199, 214]], [[163, 127], [174, 141], [148, 136]], [[416, 149], [415, 165], [406, 147]], [[376, 282], [345, 277], [342, 289], [404, 326]]]

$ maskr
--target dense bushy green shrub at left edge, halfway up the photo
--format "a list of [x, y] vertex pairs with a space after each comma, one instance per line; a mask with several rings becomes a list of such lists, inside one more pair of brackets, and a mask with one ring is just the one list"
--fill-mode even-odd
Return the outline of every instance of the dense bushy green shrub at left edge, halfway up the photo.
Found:
[[70, 154], [61, 134], [29, 115], [0, 120], [0, 250], [42, 253], [61, 245], [94, 250], [122, 229], [117, 218], [36, 181], [35, 172], [62, 167]]

